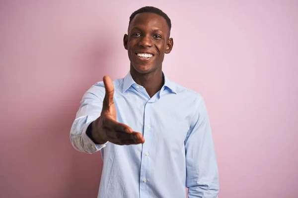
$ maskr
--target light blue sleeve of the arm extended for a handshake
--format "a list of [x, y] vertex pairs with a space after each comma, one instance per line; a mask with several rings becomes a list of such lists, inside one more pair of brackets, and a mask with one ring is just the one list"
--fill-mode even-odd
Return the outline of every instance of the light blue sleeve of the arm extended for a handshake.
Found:
[[97, 145], [86, 135], [89, 124], [100, 116], [104, 94], [104, 88], [99, 83], [92, 86], [80, 101], [70, 132], [71, 143], [80, 152], [91, 154], [106, 145]]

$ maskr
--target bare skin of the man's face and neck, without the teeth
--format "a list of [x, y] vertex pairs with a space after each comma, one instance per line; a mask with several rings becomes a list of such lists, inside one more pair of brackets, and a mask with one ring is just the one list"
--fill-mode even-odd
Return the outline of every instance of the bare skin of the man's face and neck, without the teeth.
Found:
[[[173, 48], [173, 39], [166, 20], [155, 13], [137, 14], [131, 21], [128, 34], [124, 35], [124, 48], [128, 51], [130, 71], [135, 82], [143, 86], [150, 97], [162, 85], [162, 62], [165, 53]], [[148, 61], [140, 60], [136, 52], [149, 52], [153, 57]]]

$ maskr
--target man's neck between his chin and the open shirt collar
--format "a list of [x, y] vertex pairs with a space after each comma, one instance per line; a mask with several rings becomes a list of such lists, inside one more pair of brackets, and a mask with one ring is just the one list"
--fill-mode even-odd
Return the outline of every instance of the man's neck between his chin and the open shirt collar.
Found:
[[161, 67], [153, 72], [142, 74], [136, 71], [133, 66], [131, 66], [130, 73], [134, 81], [146, 89], [150, 98], [154, 96], [164, 84]]

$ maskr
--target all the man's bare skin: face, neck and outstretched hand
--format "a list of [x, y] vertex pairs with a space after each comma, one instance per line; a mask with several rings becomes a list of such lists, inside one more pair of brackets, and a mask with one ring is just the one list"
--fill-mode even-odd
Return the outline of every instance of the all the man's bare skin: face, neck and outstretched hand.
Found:
[[[130, 59], [130, 72], [134, 81], [143, 86], [150, 97], [154, 96], [164, 84], [162, 62], [165, 53], [173, 48], [166, 20], [155, 13], [137, 14], [124, 35], [124, 48]], [[151, 53], [149, 59], [142, 59], [136, 53]], [[116, 121], [114, 104], [114, 85], [109, 76], [103, 77], [105, 98], [100, 117], [92, 123], [92, 137], [98, 144], [111, 142], [117, 145], [144, 144], [145, 139], [139, 132]]]

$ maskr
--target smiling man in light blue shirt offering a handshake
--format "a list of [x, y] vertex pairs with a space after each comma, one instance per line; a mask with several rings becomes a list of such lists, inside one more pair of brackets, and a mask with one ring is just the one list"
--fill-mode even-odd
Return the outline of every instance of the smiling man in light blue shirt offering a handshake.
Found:
[[135, 11], [123, 39], [130, 72], [114, 82], [104, 76], [82, 98], [70, 138], [79, 151], [101, 151], [98, 198], [185, 198], [185, 187], [189, 198], [218, 195], [204, 100], [162, 72], [170, 29], [160, 9]]

